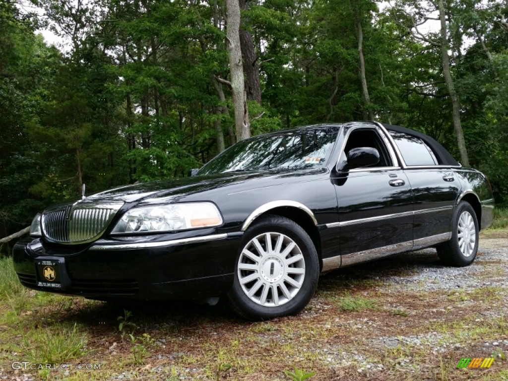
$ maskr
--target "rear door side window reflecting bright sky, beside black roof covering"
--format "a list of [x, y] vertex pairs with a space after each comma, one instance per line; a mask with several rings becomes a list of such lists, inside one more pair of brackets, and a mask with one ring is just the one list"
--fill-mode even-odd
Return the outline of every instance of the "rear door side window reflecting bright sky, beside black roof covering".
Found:
[[395, 144], [407, 166], [435, 166], [438, 164], [434, 152], [420, 138], [390, 131]]

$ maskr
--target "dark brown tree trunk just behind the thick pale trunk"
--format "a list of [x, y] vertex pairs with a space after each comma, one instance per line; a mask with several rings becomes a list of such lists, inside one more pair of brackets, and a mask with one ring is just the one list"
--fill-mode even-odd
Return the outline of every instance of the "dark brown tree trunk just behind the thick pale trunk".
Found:
[[[247, 0], [239, 0], [240, 9], [248, 8]], [[243, 20], [245, 23], [245, 19]], [[247, 90], [247, 99], [261, 104], [261, 87], [259, 82], [259, 62], [256, 56], [256, 49], [252, 34], [243, 28], [240, 28], [240, 46], [243, 57], [243, 72], [245, 73], [245, 87]]]

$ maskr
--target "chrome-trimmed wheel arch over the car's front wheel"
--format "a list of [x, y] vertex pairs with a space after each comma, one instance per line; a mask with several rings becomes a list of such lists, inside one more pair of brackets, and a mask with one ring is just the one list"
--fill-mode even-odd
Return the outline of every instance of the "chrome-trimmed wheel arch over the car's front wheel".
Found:
[[321, 255], [321, 235], [317, 229], [317, 220], [314, 213], [305, 205], [291, 200], [272, 201], [257, 208], [245, 219], [242, 231], [254, 223], [259, 217], [265, 215], [279, 215], [295, 221], [309, 235], [319, 258], [320, 270], [323, 268]]

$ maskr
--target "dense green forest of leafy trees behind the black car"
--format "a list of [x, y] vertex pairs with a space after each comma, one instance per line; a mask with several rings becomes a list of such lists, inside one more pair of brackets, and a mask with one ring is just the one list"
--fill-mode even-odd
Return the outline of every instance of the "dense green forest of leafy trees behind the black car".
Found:
[[507, 18], [508, 0], [0, 0], [0, 237], [82, 183], [186, 176], [245, 134], [351, 120], [434, 137], [508, 204]]

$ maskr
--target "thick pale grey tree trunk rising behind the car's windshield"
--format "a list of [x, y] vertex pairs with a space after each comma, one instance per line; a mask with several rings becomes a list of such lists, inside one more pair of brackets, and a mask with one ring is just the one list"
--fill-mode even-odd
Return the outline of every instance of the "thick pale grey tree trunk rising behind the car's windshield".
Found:
[[231, 76], [231, 92], [235, 108], [236, 140], [250, 137], [250, 123], [248, 120], [245, 83], [243, 79], [242, 51], [240, 47], [240, 6], [238, 0], [226, 0], [228, 9], [228, 30], [226, 45], [229, 55], [229, 70]]

